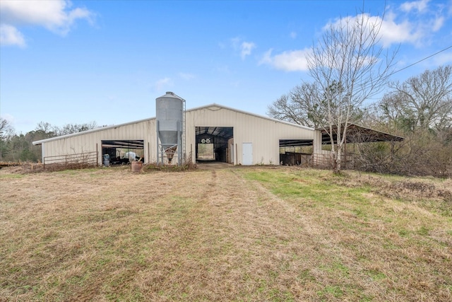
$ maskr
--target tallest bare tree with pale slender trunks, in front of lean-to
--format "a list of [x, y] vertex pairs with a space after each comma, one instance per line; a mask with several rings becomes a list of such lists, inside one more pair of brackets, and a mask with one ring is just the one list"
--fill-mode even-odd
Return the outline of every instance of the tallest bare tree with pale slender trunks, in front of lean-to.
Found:
[[335, 172], [340, 171], [350, 117], [365, 100], [383, 89], [393, 70], [397, 51], [390, 54], [380, 46], [382, 20], [361, 13], [331, 23], [307, 57], [309, 74], [323, 92], [328, 121], [323, 127], [331, 140]]

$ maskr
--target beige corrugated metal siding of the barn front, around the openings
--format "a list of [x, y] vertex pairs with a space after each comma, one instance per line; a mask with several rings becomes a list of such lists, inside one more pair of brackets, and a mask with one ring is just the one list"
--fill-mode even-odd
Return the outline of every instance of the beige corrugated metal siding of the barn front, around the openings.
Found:
[[[102, 163], [102, 140], [140, 139], [144, 141], [145, 163], [157, 160], [155, 119], [121, 124], [117, 127], [90, 130], [80, 135], [41, 142], [45, 156], [99, 151]], [[186, 111], [186, 155], [195, 161], [196, 127], [233, 127], [235, 163], [242, 164], [242, 144], [253, 144], [253, 164], [279, 164], [280, 139], [315, 139], [314, 129], [279, 122], [266, 117], [224, 108], [220, 105]]]

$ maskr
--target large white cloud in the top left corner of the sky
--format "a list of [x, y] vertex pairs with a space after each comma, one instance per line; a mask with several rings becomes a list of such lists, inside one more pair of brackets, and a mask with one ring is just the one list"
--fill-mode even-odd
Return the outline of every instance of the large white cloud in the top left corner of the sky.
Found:
[[53, 33], [66, 35], [78, 19], [93, 22], [94, 14], [88, 9], [71, 7], [71, 1], [67, 0], [2, 0], [1, 25], [8, 26], [9, 33], [15, 32], [19, 37], [22, 36], [18, 30], [21, 25], [42, 26]]

